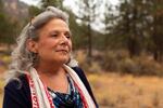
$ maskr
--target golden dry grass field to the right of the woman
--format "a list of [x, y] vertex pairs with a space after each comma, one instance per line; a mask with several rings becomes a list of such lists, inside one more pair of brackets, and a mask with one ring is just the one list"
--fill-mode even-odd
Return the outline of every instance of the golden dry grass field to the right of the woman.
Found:
[[163, 108], [163, 79], [111, 73], [88, 75], [103, 108]]

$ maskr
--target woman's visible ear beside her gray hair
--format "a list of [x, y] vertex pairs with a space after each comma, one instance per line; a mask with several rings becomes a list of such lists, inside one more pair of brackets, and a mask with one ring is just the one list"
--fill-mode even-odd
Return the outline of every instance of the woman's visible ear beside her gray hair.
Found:
[[37, 41], [34, 41], [33, 39], [27, 40], [26, 48], [28, 51], [30, 51], [33, 53], [38, 53], [38, 43], [37, 43]]

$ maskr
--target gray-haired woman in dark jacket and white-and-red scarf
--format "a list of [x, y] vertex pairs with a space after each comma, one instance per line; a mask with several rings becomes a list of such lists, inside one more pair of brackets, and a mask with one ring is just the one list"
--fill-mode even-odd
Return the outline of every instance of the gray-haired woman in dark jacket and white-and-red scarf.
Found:
[[97, 108], [90, 85], [71, 57], [67, 15], [48, 6], [23, 29], [12, 53], [3, 108]]

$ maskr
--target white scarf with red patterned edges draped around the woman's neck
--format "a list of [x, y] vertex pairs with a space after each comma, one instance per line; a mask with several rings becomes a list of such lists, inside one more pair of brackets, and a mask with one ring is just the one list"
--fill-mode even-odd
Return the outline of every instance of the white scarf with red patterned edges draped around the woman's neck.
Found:
[[[64, 69], [71, 76], [74, 81], [74, 85], [79, 92], [83, 100], [83, 107], [96, 108], [92, 98], [90, 97], [87, 89], [85, 87], [77, 73], [66, 65], [64, 65]], [[33, 108], [55, 108], [52, 97], [49, 94], [48, 87], [41, 82], [35, 68], [30, 68], [29, 75], [27, 75], [27, 79], [30, 87]]]

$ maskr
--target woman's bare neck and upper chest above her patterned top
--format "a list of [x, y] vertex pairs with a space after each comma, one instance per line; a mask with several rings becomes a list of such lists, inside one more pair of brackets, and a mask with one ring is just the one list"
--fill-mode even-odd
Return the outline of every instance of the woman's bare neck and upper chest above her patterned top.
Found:
[[36, 70], [39, 75], [41, 81], [50, 89], [67, 93], [68, 81], [66, 78], [66, 71], [62, 65], [49, 65], [49, 64], [39, 64], [36, 67]]

